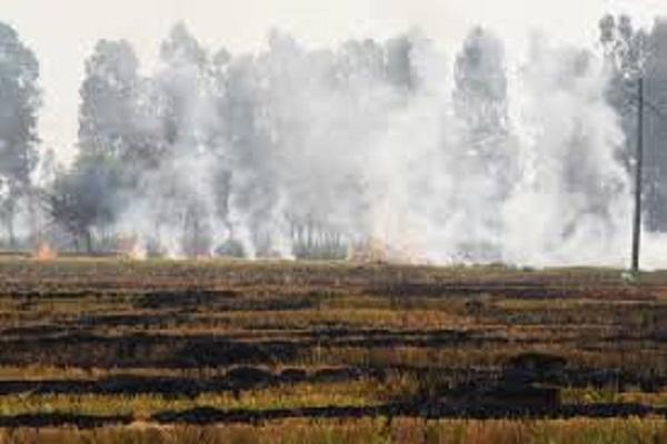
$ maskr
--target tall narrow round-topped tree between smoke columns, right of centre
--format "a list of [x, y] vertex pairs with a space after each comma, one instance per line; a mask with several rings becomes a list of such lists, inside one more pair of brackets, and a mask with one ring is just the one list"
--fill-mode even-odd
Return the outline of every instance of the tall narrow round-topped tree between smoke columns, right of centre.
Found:
[[475, 256], [497, 259], [495, 233], [501, 231], [500, 203], [516, 180], [516, 157], [509, 152], [502, 41], [481, 28], [474, 29], [464, 41], [454, 74], [454, 107], [462, 149], [449, 161], [465, 173], [455, 182], [460, 191], [454, 194], [451, 204], [477, 224], [478, 231], [462, 246]]

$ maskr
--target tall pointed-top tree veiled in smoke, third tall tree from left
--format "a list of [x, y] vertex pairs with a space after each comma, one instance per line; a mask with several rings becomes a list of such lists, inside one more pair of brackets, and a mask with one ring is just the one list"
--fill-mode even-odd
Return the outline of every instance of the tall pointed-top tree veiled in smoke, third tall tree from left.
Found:
[[[195, 169], [197, 178], [175, 174], [170, 186], [153, 183], [156, 192], [170, 208], [162, 210], [181, 228], [181, 253], [188, 256], [209, 254], [215, 218], [213, 194], [216, 169], [212, 154], [217, 130], [212, 91], [216, 89], [215, 65], [207, 51], [185, 23], [177, 23], [160, 47], [161, 69], [157, 74], [162, 100], [165, 160], [170, 168]], [[217, 60], [223, 63], [222, 58]]]

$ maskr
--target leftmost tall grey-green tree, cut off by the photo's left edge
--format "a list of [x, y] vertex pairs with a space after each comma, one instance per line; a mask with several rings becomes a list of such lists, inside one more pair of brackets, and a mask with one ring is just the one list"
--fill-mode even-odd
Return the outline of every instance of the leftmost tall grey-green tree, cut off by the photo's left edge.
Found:
[[0, 214], [11, 245], [19, 200], [29, 196], [37, 163], [39, 62], [17, 32], [0, 22]]

